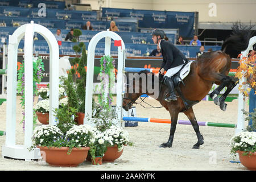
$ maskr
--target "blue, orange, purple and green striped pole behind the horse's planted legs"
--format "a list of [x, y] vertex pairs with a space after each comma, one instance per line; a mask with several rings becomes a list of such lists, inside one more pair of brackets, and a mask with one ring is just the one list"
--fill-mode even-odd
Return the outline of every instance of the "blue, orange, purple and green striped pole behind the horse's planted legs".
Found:
[[[137, 121], [137, 122], [150, 122], [150, 123], [168, 123], [171, 124], [171, 119], [158, 119], [158, 118], [138, 118], [138, 117], [123, 117], [123, 121]], [[190, 121], [179, 120], [177, 121], [179, 125], [191, 125]], [[214, 123], [197, 121], [199, 126], [214, 126], [214, 127], [232, 127], [236, 128], [237, 125], [229, 123]]]

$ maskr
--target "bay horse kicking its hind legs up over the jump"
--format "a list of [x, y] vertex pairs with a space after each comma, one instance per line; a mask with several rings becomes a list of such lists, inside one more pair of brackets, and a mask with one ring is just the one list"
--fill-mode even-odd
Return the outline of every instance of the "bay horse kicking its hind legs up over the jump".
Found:
[[[192, 148], [200, 148], [200, 145], [204, 144], [203, 135], [199, 131], [199, 125], [196, 121], [195, 114], [193, 112], [192, 105], [201, 101], [212, 88], [213, 84], [219, 85], [218, 88], [214, 89], [210, 93], [210, 97], [214, 100], [214, 104], [219, 105], [220, 109], [226, 110], [225, 99], [230, 93], [230, 91], [236, 86], [236, 82], [228, 76], [231, 67], [231, 58], [226, 50], [235, 49], [237, 51], [243, 51], [247, 48], [249, 40], [251, 38], [252, 32], [251, 27], [242, 26], [241, 24], [235, 23], [232, 27], [232, 35], [224, 41], [220, 51], [207, 52], [201, 55], [196, 61], [191, 64], [191, 71], [188, 76], [184, 78], [183, 84], [179, 84], [176, 87], [176, 96], [178, 96], [177, 101], [166, 102], [164, 101], [165, 95], [168, 93], [168, 88], [166, 85], [161, 84], [161, 79], [159, 79], [159, 94], [155, 98], [160, 102], [160, 104], [169, 111], [171, 116], [171, 129], [170, 137], [166, 143], [160, 144], [159, 147], [172, 147], [172, 142], [174, 140], [174, 133], [177, 125], [178, 114], [183, 112], [187, 115], [189, 121], [191, 122], [193, 129], [196, 132], [197, 143], [193, 145]], [[228, 48], [228, 49], [227, 49]], [[142, 73], [148, 73], [147, 71], [142, 71], [138, 73], [138, 76]], [[154, 78], [154, 77], [152, 77]], [[126, 111], [131, 109], [131, 106], [142, 94], [147, 94], [152, 96], [146, 89], [146, 93], [142, 93], [142, 79], [140, 81], [139, 93], [125, 93], [123, 97], [123, 109]], [[154, 83], [152, 81], [152, 83]], [[135, 88], [135, 81], [133, 79], [132, 83]], [[127, 83], [126, 89], [129, 89], [129, 84]], [[220, 91], [227, 87], [227, 90], [221, 97], [218, 97]], [[179, 89], [177, 89], [179, 88]], [[180, 90], [180, 92], [177, 92]], [[183, 97], [182, 97], [183, 96]], [[186, 105], [184, 99], [190, 101], [191, 105]], [[193, 103], [194, 101], [194, 103]], [[184, 104], [185, 103], [185, 104]]]

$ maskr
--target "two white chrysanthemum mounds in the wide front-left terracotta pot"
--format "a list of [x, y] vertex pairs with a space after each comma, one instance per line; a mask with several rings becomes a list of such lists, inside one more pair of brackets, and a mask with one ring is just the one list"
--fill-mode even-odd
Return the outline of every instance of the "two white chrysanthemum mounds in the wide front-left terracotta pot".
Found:
[[32, 136], [33, 150], [36, 146], [40, 147], [69, 147], [68, 154], [72, 148], [88, 147], [94, 143], [94, 130], [89, 125], [73, 125], [66, 134], [55, 125], [42, 125], [36, 127]]

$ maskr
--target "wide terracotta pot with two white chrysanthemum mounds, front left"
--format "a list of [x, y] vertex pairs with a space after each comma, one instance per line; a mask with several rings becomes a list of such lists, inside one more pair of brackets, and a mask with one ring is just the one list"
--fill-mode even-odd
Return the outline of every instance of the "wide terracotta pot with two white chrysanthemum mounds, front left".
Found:
[[32, 141], [30, 150], [40, 148], [50, 166], [76, 167], [85, 161], [94, 142], [93, 129], [89, 125], [75, 125], [64, 134], [58, 126], [42, 125], [34, 130]]

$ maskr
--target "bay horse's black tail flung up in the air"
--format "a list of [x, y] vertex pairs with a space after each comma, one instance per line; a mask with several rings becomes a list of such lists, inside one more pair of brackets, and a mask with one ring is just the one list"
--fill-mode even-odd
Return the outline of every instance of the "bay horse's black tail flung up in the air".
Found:
[[232, 26], [232, 35], [229, 36], [228, 39], [224, 41], [221, 47], [221, 51], [226, 53], [226, 48], [234, 49], [236, 51], [244, 51], [249, 44], [249, 40], [253, 35], [253, 31], [251, 31], [252, 26], [244, 26], [241, 23], [233, 23]]

